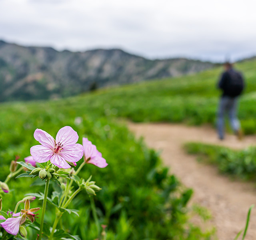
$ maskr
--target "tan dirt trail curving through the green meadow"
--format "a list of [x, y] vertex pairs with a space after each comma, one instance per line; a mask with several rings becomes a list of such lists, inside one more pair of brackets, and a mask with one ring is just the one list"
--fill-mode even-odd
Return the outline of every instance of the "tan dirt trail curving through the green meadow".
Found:
[[[246, 214], [251, 204], [256, 204], [255, 184], [232, 181], [218, 173], [214, 166], [198, 163], [196, 156], [190, 156], [182, 149], [189, 141], [228, 146], [234, 149], [256, 144], [256, 136], [236, 140], [227, 136], [219, 141], [210, 127], [188, 127], [180, 124], [134, 124], [129, 123], [136, 136], [143, 136], [147, 145], [161, 150], [164, 163], [171, 172], [187, 186], [194, 189], [192, 202], [211, 210], [213, 224], [220, 240], [233, 240], [244, 228]], [[240, 238], [241, 239], [241, 238]], [[252, 210], [246, 240], [256, 239], [256, 208]]]

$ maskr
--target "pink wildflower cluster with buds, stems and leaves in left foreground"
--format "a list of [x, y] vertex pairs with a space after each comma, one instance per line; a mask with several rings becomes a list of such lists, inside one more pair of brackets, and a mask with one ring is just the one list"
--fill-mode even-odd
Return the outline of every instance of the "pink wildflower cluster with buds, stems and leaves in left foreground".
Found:
[[[102, 154], [97, 150], [96, 146], [92, 144], [87, 138], [82, 139], [82, 143], [78, 144], [78, 134], [70, 127], [65, 126], [61, 128], [54, 139], [47, 132], [36, 129], [34, 132], [34, 138], [40, 143], [40, 145], [32, 146], [30, 148], [31, 156], [24, 158], [25, 162], [17, 162], [18, 156], [10, 164], [10, 174], [7, 176], [4, 182], [0, 182], [0, 187], [4, 193], [9, 192], [7, 185], [8, 181], [16, 176], [16, 178], [30, 177], [40, 178], [45, 181], [44, 193], [31, 193], [16, 204], [14, 212], [2, 212], [2, 199], [0, 199], [0, 237], [4, 236], [8, 239], [20, 239], [13, 236], [22, 236], [26, 239], [27, 230], [26, 227], [32, 227], [35, 224], [35, 220], [38, 214], [35, 214], [40, 208], [31, 208], [30, 202], [36, 197], [39, 200], [43, 200], [42, 213], [40, 214], [40, 225], [36, 224], [34, 229], [38, 229], [38, 238], [41, 240], [42, 236], [44, 239], [79, 239], [77, 236], [72, 236], [68, 232], [60, 229], [56, 229], [58, 221], [62, 217], [64, 212], [74, 212], [78, 215], [77, 211], [68, 209], [69, 204], [76, 197], [76, 195], [85, 190], [90, 196], [90, 202], [92, 204], [92, 210], [95, 210], [94, 201], [92, 196], [96, 195], [96, 192], [100, 191], [101, 188], [96, 185], [96, 182], [92, 181], [90, 176], [87, 180], [79, 178], [78, 173], [86, 164], [93, 164], [99, 168], [104, 168], [108, 164], [102, 157]], [[80, 164], [77, 170], [74, 168], [78, 162], [84, 156], [84, 161]], [[21, 167], [17, 170], [18, 164]], [[70, 168], [70, 170], [68, 170]], [[17, 176], [18, 173], [25, 171], [24, 173]], [[53, 197], [48, 197], [49, 182], [53, 181], [59, 184], [60, 192], [54, 194]], [[76, 183], [78, 188], [74, 189], [73, 183]], [[54, 202], [54, 198], [58, 196], [58, 204]], [[46, 211], [46, 203], [49, 201], [56, 208], [56, 218], [52, 224], [49, 233], [43, 232], [44, 225], [44, 214]], [[18, 211], [19, 205], [24, 203], [24, 208]], [[94, 212], [96, 223], [97, 216]], [[98, 233], [100, 234], [100, 233]]]

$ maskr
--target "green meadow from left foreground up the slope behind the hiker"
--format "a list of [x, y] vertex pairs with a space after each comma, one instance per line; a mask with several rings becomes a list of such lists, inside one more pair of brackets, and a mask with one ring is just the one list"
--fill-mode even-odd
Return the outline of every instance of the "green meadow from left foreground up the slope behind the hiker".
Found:
[[[255, 60], [237, 65], [244, 72], [247, 84], [239, 111], [246, 134], [256, 132], [255, 67]], [[1, 180], [7, 176], [16, 155], [21, 160], [30, 155], [30, 147], [37, 144], [33, 137], [36, 128], [55, 136], [62, 126], [71, 126], [80, 136], [78, 142], [88, 137], [109, 164], [104, 169], [88, 164], [82, 172], [84, 178], [92, 174], [102, 187], [95, 202], [100, 223], [108, 225], [107, 239], [211, 239], [212, 231], [202, 231], [189, 221], [187, 204], [192, 190], [169, 175], [158, 154], [141, 139], [136, 140], [120, 119], [214, 125], [219, 96], [215, 86], [220, 72], [216, 68], [60, 100], [3, 103], [0, 105]], [[9, 187], [16, 190], [3, 196], [3, 210], [11, 210], [12, 202], [23, 198], [31, 189], [43, 191], [42, 182], [30, 179], [25, 183], [12, 180]], [[57, 187], [51, 184], [50, 190]], [[80, 194], [73, 204], [79, 208], [80, 218], [65, 213], [63, 228], [83, 240], [95, 239], [96, 225], [87, 195]], [[53, 222], [54, 217], [54, 212], [48, 211], [46, 220]], [[34, 239], [35, 233], [29, 234], [28, 239]]]

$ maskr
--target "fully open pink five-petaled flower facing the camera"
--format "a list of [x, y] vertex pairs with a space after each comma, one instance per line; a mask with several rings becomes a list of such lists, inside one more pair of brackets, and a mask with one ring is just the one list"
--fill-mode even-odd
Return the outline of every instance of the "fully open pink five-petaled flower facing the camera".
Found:
[[61, 128], [56, 141], [47, 132], [36, 129], [34, 138], [42, 145], [30, 148], [30, 153], [36, 162], [48, 162], [59, 168], [70, 168], [67, 162], [77, 162], [83, 156], [83, 146], [76, 143], [78, 134], [70, 126]]

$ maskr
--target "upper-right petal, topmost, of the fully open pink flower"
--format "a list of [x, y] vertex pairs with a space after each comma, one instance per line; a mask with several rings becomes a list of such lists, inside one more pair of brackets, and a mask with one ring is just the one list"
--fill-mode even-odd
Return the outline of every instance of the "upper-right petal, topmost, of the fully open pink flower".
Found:
[[60, 128], [56, 136], [56, 144], [61, 142], [63, 146], [73, 145], [78, 141], [78, 134], [70, 126]]

